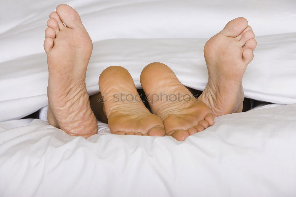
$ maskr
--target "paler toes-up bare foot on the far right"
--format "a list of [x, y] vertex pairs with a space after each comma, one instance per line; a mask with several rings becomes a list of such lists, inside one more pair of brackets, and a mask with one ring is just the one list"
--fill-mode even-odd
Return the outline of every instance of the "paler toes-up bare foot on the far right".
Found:
[[204, 48], [209, 79], [200, 95], [215, 117], [242, 112], [242, 77], [253, 59], [257, 43], [245, 18], [229, 21], [225, 28], [207, 41]]

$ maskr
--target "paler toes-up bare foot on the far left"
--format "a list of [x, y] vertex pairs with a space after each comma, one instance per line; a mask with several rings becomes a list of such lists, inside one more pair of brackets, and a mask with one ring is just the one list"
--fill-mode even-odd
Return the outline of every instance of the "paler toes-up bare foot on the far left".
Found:
[[49, 71], [47, 119], [69, 135], [88, 138], [97, 133], [85, 85], [91, 38], [72, 7], [61, 4], [49, 17], [44, 41]]

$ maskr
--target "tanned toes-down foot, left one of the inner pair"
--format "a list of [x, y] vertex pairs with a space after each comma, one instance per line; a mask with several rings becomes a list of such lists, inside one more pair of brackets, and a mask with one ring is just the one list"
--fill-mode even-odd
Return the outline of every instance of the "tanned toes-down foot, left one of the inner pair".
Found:
[[111, 133], [165, 135], [163, 121], [145, 107], [131, 75], [125, 68], [106, 68], [99, 77], [99, 88], [104, 96], [104, 112]]

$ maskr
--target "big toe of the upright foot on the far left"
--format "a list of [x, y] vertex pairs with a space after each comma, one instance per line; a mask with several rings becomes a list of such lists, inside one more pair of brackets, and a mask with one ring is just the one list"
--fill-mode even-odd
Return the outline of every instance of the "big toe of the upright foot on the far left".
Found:
[[79, 14], [72, 7], [66, 4], [60, 4], [56, 8], [56, 11], [68, 28], [83, 27]]

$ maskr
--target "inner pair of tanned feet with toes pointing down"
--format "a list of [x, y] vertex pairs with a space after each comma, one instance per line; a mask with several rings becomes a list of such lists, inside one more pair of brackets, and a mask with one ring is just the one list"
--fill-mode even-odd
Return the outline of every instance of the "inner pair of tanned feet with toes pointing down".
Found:
[[141, 85], [152, 113], [145, 107], [125, 68], [111, 66], [100, 75], [99, 87], [112, 133], [170, 135], [183, 141], [214, 124], [209, 108], [196, 99], [165, 64], [147, 65], [141, 73]]

